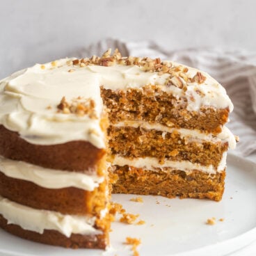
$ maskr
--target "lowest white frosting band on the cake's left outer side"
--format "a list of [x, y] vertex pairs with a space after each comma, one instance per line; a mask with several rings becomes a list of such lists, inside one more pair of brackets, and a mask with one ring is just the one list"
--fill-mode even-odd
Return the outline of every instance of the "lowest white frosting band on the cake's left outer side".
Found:
[[74, 234], [100, 234], [93, 225], [95, 217], [64, 215], [56, 211], [33, 209], [0, 195], [0, 214], [8, 224], [16, 224], [24, 230], [42, 234], [44, 230], [56, 230], [66, 237]]

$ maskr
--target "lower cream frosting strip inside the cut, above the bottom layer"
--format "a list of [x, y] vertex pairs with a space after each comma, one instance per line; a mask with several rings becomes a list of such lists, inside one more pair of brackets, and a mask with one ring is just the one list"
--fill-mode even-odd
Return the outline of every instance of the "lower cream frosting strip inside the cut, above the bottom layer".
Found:
[[[214, 166], [202, 166], [200, 163], [191, 163], [190, 161], [170, 161], [166, 159], [164, 163], [159, 163], [159, 159], [156, 157], [136, 157], [129, 159], [127, 157], [121, 157], [115, 155], [113, 158], [113, 166], [134, 166], [135, 168], [143, 168], [145, 170], [157, 171], [158, 169], [168, 172], [172, 170], [183, 170], [184, 172], [191, 172], [193, 170], [200, 170], [204, 173], [215, 174], [225, 169], [227, 159], [227, 152], [223, 153], [223, 157], [218, 164], [218, 168]], [[164, 168], [167, 168], [165, 170]]]

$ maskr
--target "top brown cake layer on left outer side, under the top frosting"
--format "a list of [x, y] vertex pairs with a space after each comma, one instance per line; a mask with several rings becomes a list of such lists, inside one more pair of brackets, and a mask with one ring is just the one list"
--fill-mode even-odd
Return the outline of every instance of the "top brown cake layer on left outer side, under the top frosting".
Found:
[[[106, 154], [88, 141], [70, 141], [58, 145], [28, 143], [17, 134], [0, 125], [0, 155], [26, 161], [45, 168], [97, 172], [95, 166]], [[68, 159], [68, 161], [67, 161]]]

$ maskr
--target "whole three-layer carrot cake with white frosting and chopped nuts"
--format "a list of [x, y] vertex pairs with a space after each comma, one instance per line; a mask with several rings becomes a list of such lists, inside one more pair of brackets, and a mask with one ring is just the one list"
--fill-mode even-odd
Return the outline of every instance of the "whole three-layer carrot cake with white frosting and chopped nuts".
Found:
[[112, 193], [221, 200], [233, 105], [205, 72], [159, 58], [65, 58], [0, 82], [0, 227], [106, 248]]

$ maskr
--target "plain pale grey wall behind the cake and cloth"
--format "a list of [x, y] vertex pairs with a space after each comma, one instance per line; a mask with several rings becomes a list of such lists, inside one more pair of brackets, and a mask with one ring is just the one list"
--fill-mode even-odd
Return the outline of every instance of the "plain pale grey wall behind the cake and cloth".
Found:
[[[0, 79], [104, 38], [255, 51], [255, 10], [255, 0], [1, 0]], [[255, 254], [256, 242], [232, 256]]]

